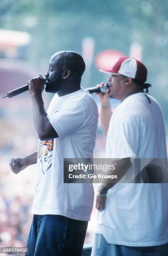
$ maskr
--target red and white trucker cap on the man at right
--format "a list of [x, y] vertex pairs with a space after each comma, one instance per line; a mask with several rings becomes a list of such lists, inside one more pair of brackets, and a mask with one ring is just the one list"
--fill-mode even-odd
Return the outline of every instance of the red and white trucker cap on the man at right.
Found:
[[126, 77], [136, 79], [136, 81], [142, 84], [146, 82], [147, 79], [147, 69], [145, 65], [143, 65], [141, 61], [129, 57], [119, 58], [111, 70], [100, 69], [99, 71], [114, 75], [122, 74]]

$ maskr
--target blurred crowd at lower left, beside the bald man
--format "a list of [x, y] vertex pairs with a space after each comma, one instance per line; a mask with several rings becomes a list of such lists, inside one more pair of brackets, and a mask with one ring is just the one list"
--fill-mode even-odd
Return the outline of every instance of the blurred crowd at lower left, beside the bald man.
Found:
[[[34, 169], [34, 168], [33, 168]], [[17, 176], [10, 171], [7, 159], [0, 172], [0, 247], [25, 247], [32, 216], [35, 177], [27, 170]], [[33, 175], [35, 176], [35, 175]]]

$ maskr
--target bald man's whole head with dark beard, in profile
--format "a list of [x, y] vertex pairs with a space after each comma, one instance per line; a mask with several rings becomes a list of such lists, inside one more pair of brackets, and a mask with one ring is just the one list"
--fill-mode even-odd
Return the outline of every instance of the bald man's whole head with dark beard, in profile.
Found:
[[84, 60], [77, 52], [56, 52], [49, 60], [49, 68], [45, 73], [48, 81], [45, 91], [63, 96], [79, 90], [84, 70]]

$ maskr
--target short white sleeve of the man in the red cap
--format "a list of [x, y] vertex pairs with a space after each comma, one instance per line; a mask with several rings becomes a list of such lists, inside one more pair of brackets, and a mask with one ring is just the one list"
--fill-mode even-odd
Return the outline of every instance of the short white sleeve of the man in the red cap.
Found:
[[119, 120], [113, 138], [111, 158], [135, 158], [138, 155], [139, 127], [136, 120]]

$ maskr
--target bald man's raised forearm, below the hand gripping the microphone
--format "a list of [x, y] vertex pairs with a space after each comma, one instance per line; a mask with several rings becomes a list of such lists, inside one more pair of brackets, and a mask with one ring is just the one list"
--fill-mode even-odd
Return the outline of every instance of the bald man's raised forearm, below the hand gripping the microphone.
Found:
[[49, 121], [47, 118], [47, 113], [44, 109], [44, 102], [41, 94], [32, 95], [32, 106], [35, 129], [39, 138], [41, 139], [44, 136], [46, 124]]

